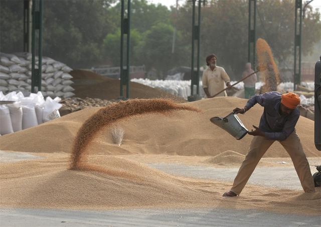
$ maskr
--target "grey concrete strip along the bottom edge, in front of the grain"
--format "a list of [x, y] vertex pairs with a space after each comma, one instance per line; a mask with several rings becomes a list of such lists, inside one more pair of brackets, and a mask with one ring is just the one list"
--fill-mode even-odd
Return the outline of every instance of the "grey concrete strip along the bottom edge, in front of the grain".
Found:
[[320, 226], [320, 217], [253, 209], [0, 209], [0, 226]]

